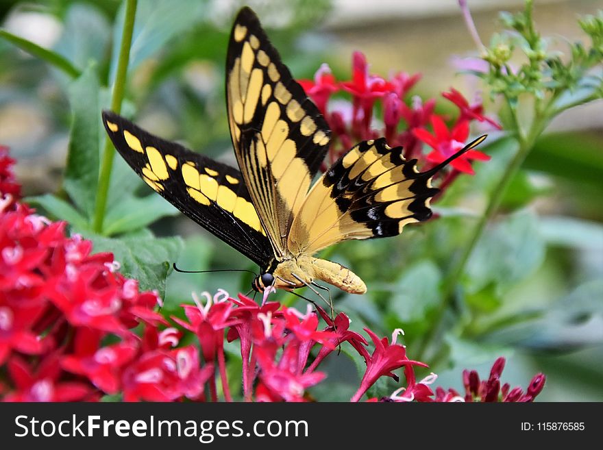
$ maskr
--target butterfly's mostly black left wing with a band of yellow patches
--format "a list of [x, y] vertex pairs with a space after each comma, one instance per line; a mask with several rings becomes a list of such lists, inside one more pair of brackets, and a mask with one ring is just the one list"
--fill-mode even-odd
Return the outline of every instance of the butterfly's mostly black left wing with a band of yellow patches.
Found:
[[273, 251], [241, 173], [162, 140], [112, 112], [103, 123], [115, 148], [156, 192], [260, 266]]

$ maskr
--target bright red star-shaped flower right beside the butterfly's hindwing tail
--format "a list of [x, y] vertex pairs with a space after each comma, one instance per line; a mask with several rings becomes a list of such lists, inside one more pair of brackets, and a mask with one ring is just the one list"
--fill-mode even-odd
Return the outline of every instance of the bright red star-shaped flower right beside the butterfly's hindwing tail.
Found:
[[[452, 130], [449, 130], [442, 118], [436, 114], [432, 114], [431, 123], [434, 129], [434, 134], [430, 134], [424, 128], [413, 129], [413, 133], [417, 138], [432, 147], [433, 151], [427, 155], [428, 161], [439, 163], [443, 162], [457, 151], [465, 147], [465, 141], [469, 137], [469, 122], [457, 122]], [[477, 150], [469, 150], [460, 157], [456, 158], [450, 164], [457, 171], [469, 174], [475, 173], [471, 164], [467, 160], [487, 161], [489, 155]]]

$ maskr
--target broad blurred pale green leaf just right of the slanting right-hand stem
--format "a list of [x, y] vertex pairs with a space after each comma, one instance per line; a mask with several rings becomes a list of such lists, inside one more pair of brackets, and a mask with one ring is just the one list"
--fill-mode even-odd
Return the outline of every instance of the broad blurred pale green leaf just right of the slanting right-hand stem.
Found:
[[537, 216], [521, 210], [488, 230], [467, 264], [469, 293], [491, 282], [497, 294], [533, 273], [543, 262], [545, 246], [538, 232]]

